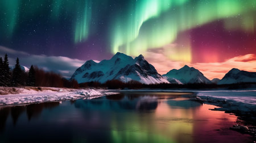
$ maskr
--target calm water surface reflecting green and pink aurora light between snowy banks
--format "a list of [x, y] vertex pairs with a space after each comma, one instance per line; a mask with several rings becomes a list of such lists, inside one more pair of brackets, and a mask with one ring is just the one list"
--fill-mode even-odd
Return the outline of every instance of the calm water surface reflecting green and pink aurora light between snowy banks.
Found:
[[250, 142], [237, 117], [185, 93], [123, 93], [0, 107], [0, 142]]

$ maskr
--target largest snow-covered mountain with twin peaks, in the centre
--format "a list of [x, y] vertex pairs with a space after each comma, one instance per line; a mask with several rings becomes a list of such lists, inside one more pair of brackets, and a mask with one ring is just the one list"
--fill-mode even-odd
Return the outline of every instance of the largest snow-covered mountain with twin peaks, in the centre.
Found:
[[122, 82], [134, 80], [145, 84], [169, 83], [156, 72], [154, 66], [144, 60], [142, 55], [133, 58], [119, 52], [110, 60], [102, 60], [99, 63], [93, 60], [86, 61], [73, 73], [71, 79], [76, 79], [78, 83], [105, 83], [112, 79]]

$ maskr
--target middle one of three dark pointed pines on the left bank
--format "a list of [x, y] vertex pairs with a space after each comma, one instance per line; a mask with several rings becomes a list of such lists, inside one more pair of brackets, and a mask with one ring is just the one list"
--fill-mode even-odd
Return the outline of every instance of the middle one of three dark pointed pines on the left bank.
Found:
[[22, 78], [21, 74], [22, 74], [22, 69], [20, 68], [20, 65], [19, 65], [19, 58], [17, 58], [15, 68], [13, 69], [13, 77], [11, 80], [11, 85], [13, 86], [21, 85], [21, 78]]

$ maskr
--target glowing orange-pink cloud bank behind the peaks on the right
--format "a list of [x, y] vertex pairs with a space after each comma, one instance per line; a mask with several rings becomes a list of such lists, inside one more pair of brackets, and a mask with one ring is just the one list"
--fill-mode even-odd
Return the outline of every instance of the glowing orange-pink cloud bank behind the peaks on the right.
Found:
[[256, 72], [256, 54], [236, 56], [224, 62], [202, 62], [191, 64], [189, 62], [172, 61], [164, 53], [159, 51], [162, 51], [162, 48], [157, 51], [147, 51], [143, 53], [145, 59], [155, 66], [155, 69], [159, 74], [166, 74], [172, 69], [180, 69], [184, 65], [193, 66], [209, 79], [221, 79], [232, 68], [246, 70], [248, 72]]

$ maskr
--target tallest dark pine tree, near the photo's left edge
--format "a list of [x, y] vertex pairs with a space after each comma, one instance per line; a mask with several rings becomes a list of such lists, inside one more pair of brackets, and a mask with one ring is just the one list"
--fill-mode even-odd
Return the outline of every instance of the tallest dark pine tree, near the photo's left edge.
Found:
[[10, 86], [11, 72], [9, 68], [8, 56], [5, 54], [5, 60], [3, 61], [3, 86]]

